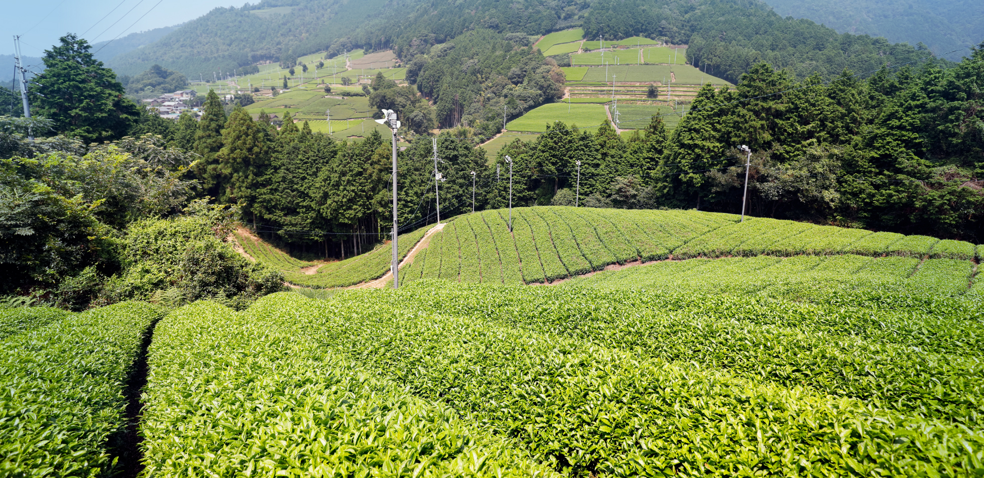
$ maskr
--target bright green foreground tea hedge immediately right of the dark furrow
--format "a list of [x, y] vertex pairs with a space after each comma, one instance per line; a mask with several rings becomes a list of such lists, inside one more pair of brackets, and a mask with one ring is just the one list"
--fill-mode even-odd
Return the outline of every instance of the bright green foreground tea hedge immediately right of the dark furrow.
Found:
[[[321, 346], [285, 314], [318, 302], [285, 293], [241, 314], [200, 302], [168, 315], [150, 351], [141, 423], [147, 472], [553, 475], [523, 450], [470, 429], [454, 409]], [[227, 423], [239, 431], [227, 436]]]

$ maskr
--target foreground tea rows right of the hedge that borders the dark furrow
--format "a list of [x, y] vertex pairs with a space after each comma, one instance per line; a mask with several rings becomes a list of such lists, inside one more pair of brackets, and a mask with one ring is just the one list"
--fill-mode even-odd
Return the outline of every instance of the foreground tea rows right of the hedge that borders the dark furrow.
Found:
[[[326, 348], [345, 350], [573, 476], [836, 475], [859, 466], [959, 474], [977, 466], [974, 412], [927, 405], [931, 416], [921, 416], [924, 397], [935, 403], [928, 397], [950, 390], [976, 406], [972, 359], [936, 362], [935, 352], [893, 343], [871, 353], [871, 344], [850, 335], [873, 320], [864, 313], [831, 343], [820, 331], [843, 323], [830, 317], [839, 306], [759, 300], [416, 282], [338, 294], [289, 315]], [[736, 308], [740, 321], [723, 319]], [[782, 313], [762, 317], [776, 308]], [[802, 311], [793, 313], [797, 322], [782, 324], [802, 332], [772, 325], [794, 310]], [[932, 329], [976, 333], [977, 326], [947, 321]], [[893, 332], [882, 333], [891, 339]], [[922, 368], [927, 359], [936, 365]], [[870, 380], [870, 370], [886, 372]], [[929, 377], [953, 388], [923, 392], [917, 384]], [[851, 397], [860, 390], [864, 398]], [[735, 413], [747, 419], [735, 421]], [[750, 460], [707, 459], [739, 454]]]

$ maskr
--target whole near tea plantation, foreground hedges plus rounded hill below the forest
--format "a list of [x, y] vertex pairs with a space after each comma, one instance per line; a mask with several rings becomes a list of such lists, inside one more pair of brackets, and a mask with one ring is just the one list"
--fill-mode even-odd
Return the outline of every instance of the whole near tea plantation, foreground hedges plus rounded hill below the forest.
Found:
[[[399, 289], [0, 309], [0, 475], [984, 474], [984, 246], [693, 210], [512, 225], [454, 217]], [[294, 283], [389, 267], [238, 241]]]

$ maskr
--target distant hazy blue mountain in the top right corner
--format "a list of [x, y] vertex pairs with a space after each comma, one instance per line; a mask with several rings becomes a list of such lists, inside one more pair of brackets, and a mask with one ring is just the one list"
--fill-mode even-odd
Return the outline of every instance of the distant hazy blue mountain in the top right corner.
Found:
[[[973, 0], [767, 0], [775, 13], [810, 19], [840, 32], [920, 42], [937, 54], [984, 39], [984, 9]], [[945, 58], [959, 60], [965, 52]]]

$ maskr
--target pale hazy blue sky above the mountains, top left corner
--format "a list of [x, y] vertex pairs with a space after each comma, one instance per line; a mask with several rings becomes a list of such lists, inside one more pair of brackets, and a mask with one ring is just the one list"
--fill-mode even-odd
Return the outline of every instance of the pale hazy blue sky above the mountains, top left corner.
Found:
[[[124, 36], [134, 31], [180, 24], [201, 17], [215, 7], [240, 7], [245, 2], [243, 0], [31, 0], [2, 3], [4, 21], [0, 22], [0, 33], [2, 33], [0, 54], [14, 53], [14, 35], [21, 34], [23, 35], [21, 40], [25, 43], [22, 53], [25, 56], [41, 56], [41, 50], [49, 48], [58, 41], [59, 36], [69, 31], [82, 35], [84, 31], [89, 30], [83, 37], [95, 43], [112, 39], [120, 33]], [[144, 18], [141, 19], [141, 16]], [[100, 22], [99, 19], [103, 17], [105, 20]], [[116, 25], [113, 25], [114, 23]]]

